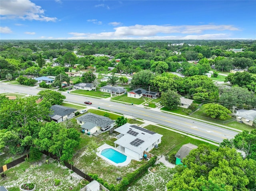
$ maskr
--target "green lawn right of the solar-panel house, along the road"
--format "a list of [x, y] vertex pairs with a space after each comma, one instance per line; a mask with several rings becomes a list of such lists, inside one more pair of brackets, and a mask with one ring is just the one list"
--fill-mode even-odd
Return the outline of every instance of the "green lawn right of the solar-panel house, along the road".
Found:
[[209, 145], [212, 150], [215, 150], [217, 148], [217, 146], [214, 146], [210, 143], [173, 132], [172, 130], [160, 128], [158, 126], [148, 125], [148, 126], [145, 126], [144, 128], [163, 135], [162, 142], [158, 145], [158, 148], [154, 148], [153, 150], [150, 151], [150, 153], [156, 156], [159, 156], [162, 154], [168, 155], [171, 152], [177, 152], [182, 145], [187, 143], [192, 143], [197, 146], [200, 144], [206, 144], [206, 145]]

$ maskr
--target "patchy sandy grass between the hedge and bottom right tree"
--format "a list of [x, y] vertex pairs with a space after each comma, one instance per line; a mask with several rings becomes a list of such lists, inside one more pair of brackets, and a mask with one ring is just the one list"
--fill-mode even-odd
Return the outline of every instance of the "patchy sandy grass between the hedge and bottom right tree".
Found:
[[127, 191], [166, 191], [166, 184], [172, 177], [170, 167], [163, 163], [153, 165], [148, 171], [130, 186]]

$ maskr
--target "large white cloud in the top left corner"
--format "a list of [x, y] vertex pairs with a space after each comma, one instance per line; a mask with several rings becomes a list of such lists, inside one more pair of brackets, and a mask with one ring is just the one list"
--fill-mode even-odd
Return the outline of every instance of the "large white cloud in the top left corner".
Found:
[[9, 19], [20, 18], [23, 20], [52, 21], [56, 17], [44, 16], [44, 10], [30, 0], [4, 0], [1, 1], [0, 14]]

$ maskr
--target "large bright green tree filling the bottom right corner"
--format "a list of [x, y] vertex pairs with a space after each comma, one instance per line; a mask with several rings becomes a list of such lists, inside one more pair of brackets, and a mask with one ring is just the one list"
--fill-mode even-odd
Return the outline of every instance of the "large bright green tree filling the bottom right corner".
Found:
[[256, 161], [243, 159], [234, 148], [210, 150], [199, 145], [176, 166], [168, 191], [239, 191], [256, 186]]

